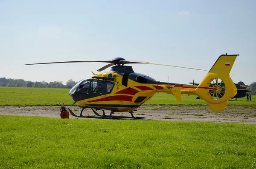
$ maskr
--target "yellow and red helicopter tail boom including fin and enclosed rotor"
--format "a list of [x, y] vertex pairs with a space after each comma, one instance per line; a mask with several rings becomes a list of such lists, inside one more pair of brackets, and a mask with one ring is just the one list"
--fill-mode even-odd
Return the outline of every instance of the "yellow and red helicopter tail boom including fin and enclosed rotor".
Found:
[[155, 86], [156, 92], [173, 94], [179, 102], [182, 102], [183, 94], [198, 95], [208, 103], [212, 111], [222, 111], [226, 108], [227, 100], [237, 93], [229, 74], [238, 55], [221, 55], [198, 86], [160, 83]]

